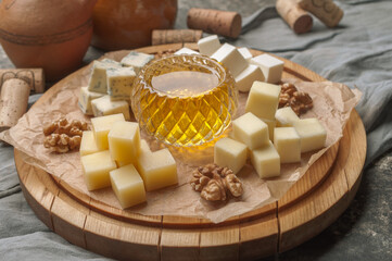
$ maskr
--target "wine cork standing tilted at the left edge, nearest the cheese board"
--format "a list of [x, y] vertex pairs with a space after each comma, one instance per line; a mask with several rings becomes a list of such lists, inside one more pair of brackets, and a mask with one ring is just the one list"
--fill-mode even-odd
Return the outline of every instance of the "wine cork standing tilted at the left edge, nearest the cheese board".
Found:
[[30, 86], [23, 79], [10, 78], [1, 86], [0, 129], [16, 125], [17, 120], [27, 111]]

